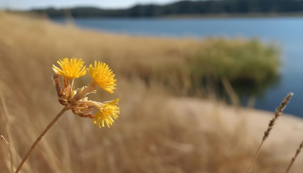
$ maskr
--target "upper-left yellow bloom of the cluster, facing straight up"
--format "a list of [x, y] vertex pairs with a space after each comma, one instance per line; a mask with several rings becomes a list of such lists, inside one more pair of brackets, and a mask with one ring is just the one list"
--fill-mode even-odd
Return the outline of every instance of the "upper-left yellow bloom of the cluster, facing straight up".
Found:
[[68, 58], [63, 58], [58, 60], [57, 63], [62, 70], [55, 65], [53, 65], [53, 68], [57, 70], [59, 75], [68, 79], [78, 78], [86, 74], [85, 66], [83, 67], [84, 61], [82, 61], [82, 59], [71, 58], [69, 60]]

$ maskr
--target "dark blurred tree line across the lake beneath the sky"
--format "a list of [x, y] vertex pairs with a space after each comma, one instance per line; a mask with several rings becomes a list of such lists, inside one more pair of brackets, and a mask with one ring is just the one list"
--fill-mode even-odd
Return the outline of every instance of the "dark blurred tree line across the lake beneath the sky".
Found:
[[50, 17], [161, 17], [167, 15], [302, 13], [303, 0], [182, 0], [166, 5], [135, 5], [127, 9], [76, 7], [33, 9]]

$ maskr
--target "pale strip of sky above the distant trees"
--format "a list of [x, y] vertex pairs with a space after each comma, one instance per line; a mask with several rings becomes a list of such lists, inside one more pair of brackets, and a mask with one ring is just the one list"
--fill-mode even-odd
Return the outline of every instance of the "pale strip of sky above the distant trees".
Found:
[[47, 7], [93, 6], [100, 8], [127, 8], [135, 4], [166, 4], [178, 0], [0, 0], [0, 9], [29, 10]]

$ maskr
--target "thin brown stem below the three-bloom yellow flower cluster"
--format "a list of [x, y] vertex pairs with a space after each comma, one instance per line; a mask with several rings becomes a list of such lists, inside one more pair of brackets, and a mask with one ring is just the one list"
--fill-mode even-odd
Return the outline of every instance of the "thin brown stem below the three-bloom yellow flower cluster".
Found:
[[45, 130], [43, 130], [43, 132], [40, 134], [40, 136], [36, 139], [36, 141], [31, 145], [29, 151], [26, 153], [26, 155], [24, 156], [24, 158], [22, 159], [21, 163], [19, 164], [17, 170], [15, 171], [15, 173], [19, 173], [20, 169], [22, 168], [24, 162], [26, 159], [28, 159], [28, 157], [30, 156], [31, 151], [35, 148], [35, 146], [39, 143], [39, 141], [42, 139], [42, 137], [45, 135], [45, 133], [56, 123], [56, 121], [61, 117], [61, 115], [63, 115], [63, 113], [65, 111], [67, 111], [68, 109], [70, 109], [69, 106], [65, 106], [58, 115], [56, 115], [56, 117], [47, 125], [47, 127], [45, 128]]

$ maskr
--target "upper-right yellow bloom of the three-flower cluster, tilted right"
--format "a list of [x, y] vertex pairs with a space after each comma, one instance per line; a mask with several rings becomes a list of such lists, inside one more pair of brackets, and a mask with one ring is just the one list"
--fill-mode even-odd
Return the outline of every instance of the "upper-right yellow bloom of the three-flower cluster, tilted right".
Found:
[[99, 61], [97, 64], [97, 61], [95, 61], [94, 68], [90, 65], [89, 74], [93, 81], [107, 92], [113, 93], [113, 89], [116, 89], [116, 79], [114, 79], [115, 74], [111, 69], [109, 69], [106, 63], [100, 63]]

